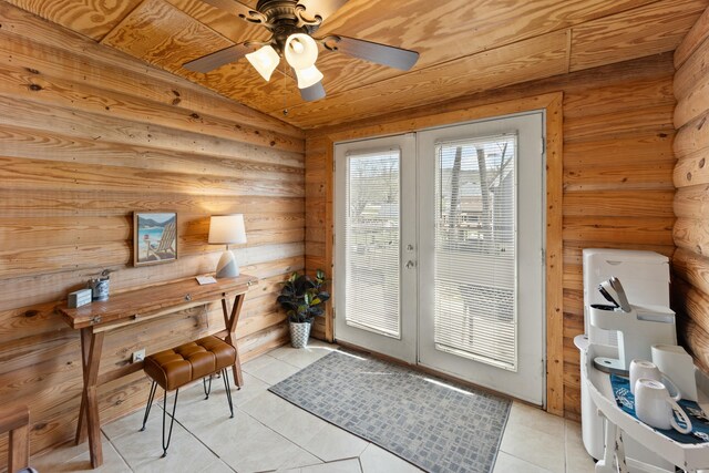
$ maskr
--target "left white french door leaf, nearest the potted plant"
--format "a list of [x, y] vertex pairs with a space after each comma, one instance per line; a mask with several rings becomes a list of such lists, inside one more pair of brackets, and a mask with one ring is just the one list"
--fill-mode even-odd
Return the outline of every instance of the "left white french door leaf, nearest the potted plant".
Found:
[[414, 134], [336, 145], [336, 337], [409, 363], [417, 361], [415, 161]]

